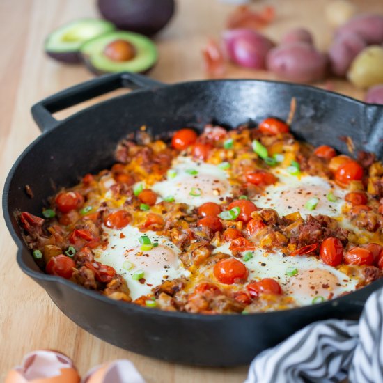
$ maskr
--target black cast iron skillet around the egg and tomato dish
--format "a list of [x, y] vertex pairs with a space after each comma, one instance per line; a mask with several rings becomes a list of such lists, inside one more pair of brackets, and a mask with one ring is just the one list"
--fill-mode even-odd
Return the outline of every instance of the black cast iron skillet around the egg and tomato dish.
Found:
[[[52, 113], [116, 88], [136, 89], [58, 121]], [[6, 224], [19, 247], [17, 262], [58, 308], [91, 334], [150, 357], [186, 364], [247, 364], [267, 347], [316, 320], [358, 318], [383, 279], [350, 295], [315, 306], [251, 315], [171, 313], [116, 302], [70, 281], [43, 274], [22, 240], [16, 211], [40, 214], [56, 187], [114, 163], [114, 148], [128, 132], [146, 125], [155, 134], [212, 121], [235, 127], [267, 116], [286, 119], [291, 97], [297, 111], [292, 132], [318, 145], [347, 152], [339, 136], [358, 149], [383, 154], [383, 107], [310, 86], [274, 81], [222, 80], [165, 85], [127, 73], [107, 75], [48, 97], [32, 108], [42, 130], [11, 169], [3, 192]], [[29, 198], [25, 185], [33, 190]]]

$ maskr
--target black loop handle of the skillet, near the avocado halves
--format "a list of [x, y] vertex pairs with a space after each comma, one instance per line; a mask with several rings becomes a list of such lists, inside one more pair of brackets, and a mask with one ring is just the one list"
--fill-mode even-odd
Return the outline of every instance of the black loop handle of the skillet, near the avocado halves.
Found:
[[31, 109], [32, 116], [40, 130], [46, 132], [58, 125], [58, 120], [52, 116], [52, 113], [56, 111], [72, 107], [79, 104], [79, 102], [91, 100], [93, 97], [119, 88], [141, 89], [155, 88], [157, 86], [164, 86], [164, 84], [133, 73], [121, 72], [104, 75], [45, 98], [33, 105]]

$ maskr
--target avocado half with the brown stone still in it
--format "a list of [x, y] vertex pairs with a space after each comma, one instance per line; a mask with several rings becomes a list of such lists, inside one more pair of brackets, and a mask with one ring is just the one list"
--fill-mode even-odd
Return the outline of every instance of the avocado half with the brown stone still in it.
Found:
[[109, 72], [147, 72], [155, 65], [157, 47], [146, 36], [116, 31], [93, 38], [81, 47], [86, 66], [96, 75]]

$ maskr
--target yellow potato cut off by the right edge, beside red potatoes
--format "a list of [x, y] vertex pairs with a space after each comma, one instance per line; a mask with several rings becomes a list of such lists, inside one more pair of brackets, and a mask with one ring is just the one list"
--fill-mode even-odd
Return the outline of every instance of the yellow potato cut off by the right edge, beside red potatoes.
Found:
[[347, 78], [359, 88], [383, 83], [383, 47], [364, 48], [352, 61]]

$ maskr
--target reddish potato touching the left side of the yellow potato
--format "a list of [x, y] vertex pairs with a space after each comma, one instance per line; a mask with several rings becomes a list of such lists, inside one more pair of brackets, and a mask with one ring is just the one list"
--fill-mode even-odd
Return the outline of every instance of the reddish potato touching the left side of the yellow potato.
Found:
[[329, 49], [329, 61], [331, 71], [344, 77], [352, 60], [367, 46], [366, 41], [361, 36], [352, 31], [345, 31], [337, 36]]

